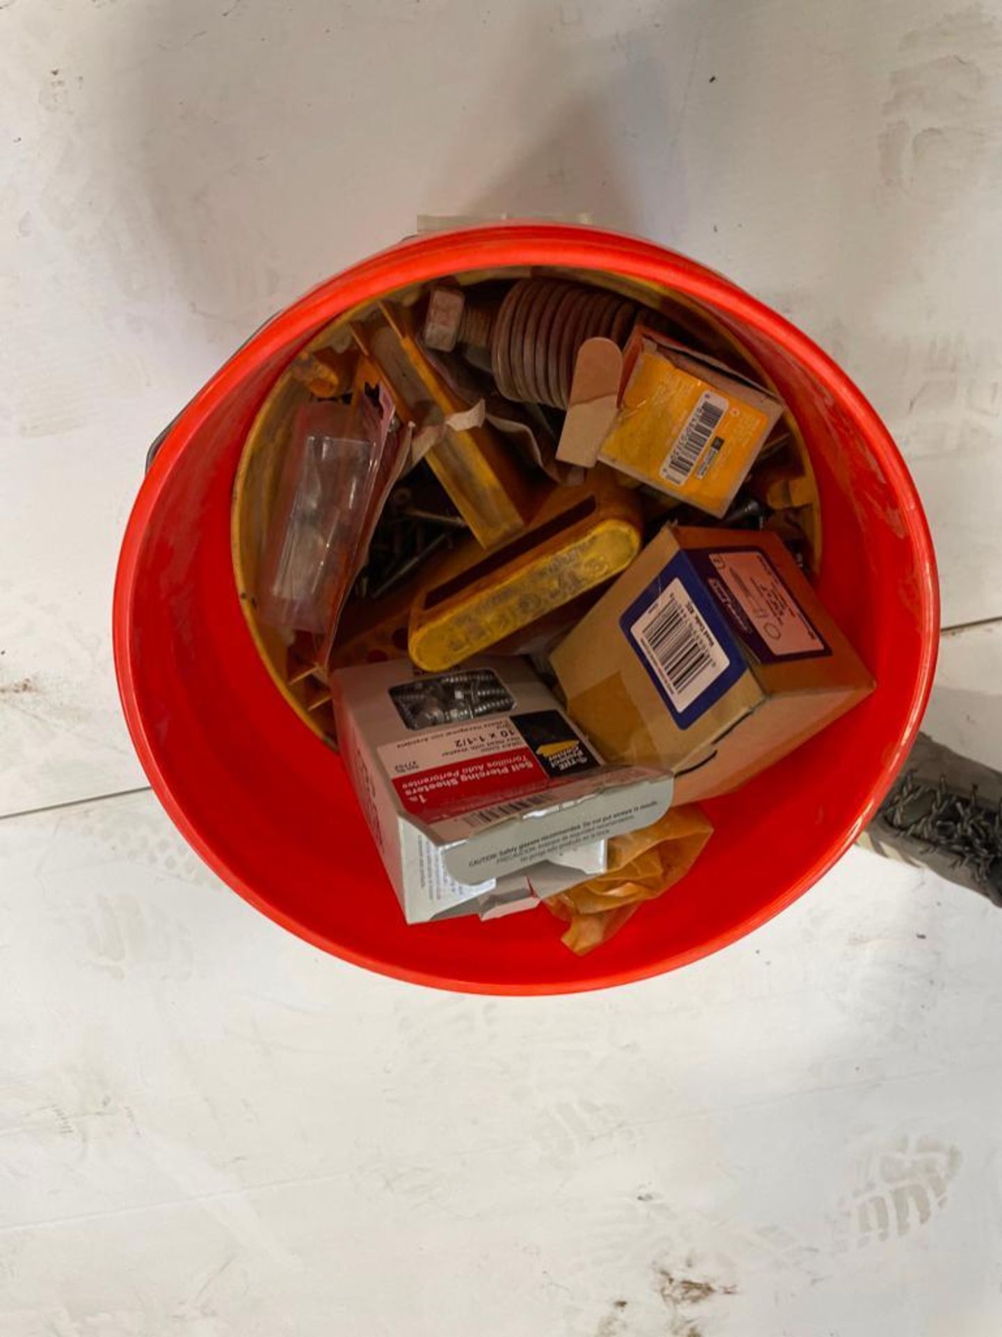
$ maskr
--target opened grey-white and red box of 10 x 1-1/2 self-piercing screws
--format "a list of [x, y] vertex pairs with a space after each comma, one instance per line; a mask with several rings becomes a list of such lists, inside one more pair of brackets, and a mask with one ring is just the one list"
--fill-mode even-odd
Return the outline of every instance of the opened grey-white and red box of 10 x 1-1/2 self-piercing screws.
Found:
[[671, 802], [664, 771], [607, 766], [521, 659], [425, 675], [339, 668], [341, 754], [410, 924], [537, 904], [605, 870], [605, 842]]

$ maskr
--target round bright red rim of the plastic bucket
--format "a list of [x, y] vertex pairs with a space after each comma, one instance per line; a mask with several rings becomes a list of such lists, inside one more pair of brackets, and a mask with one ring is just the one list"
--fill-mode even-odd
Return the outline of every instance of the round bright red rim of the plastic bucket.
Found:
[[[132, 638], [138, 568], [150, 520], [155, 515], [171, 475], [192, 437], [200, 431], [206, 418], [239, 389], [250, 373], [282, 348], [295, 346], [297, 340], [306, 344], [323, 325], [343, 312], [373, 301], [386, 291], [442, 278], [457, 270], [490, 270], [533, 265], [607, 270], [627, 278], [671, 287], [685, 297], [719, 306], [783, 346], [838, 398], [860, 436], [875, 449], [880, 468], [895, 492], [900, 521], [908, 543], [915, 551], [915, 564], [921, 574], [916, 602], [922, 656], [915, 667], [904, 731], [896, 745], [882, 757], [880, 767], [870, 786], [868, 798], [859, 805], [855, 818], [847, 825], [840, 840], [827, 846], [823, 854], [782, 893], [736, 920], [727, 929], [672, 956], [671, 960], [648, 963], [629, 969], [603, 971], [599, 957], [596, 960], [599, 968], [589, 971], [580, 980], [506, 984], [504, 980], [462, 980], [458, 975], [446, 979], [417, 967], [385, 961], [369, 953], [349, 949], [286, 913], [236, 876], [203, 840], [160, 770], [156, 747], [138, 705], [136, 679], [128, 646]], [[939, 584], [935, 554], [918, 491], [890, 432], [846, 372], [786, 317], [721, 274], [656, 242], [588, 225], [570, 223], [488, 223], [407, 238], [322, 281], [266, 321], [226, 360], [158, 439], [155, 457], [150, 461], [148, 472], [140, 484], [126, 524], [112, 596], [115, 674], [132, 745], [151, 787], [168, 817], [212, 872], [274, 923], [341, 960], [410, 984], [482, 995], [577, 993], [652, 979], [729, 947], [787, 909], [842, 858], [891, 787], [922, 722], [933, 687], [938, 643]]]

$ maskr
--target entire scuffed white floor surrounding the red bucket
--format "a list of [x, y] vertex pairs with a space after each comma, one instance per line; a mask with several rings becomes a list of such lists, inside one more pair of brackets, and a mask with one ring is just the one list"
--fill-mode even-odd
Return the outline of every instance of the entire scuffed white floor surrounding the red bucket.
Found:
[[227, 892], [120, 722], [146, 447], [422, 214], [589, 214], [790, 316], [937, 540], [1002, 765], [1002, 5], [0, 0], [0, 1332], [994, 1337], [1002, 916], [855, 850], [615, 993], [365, 975]]

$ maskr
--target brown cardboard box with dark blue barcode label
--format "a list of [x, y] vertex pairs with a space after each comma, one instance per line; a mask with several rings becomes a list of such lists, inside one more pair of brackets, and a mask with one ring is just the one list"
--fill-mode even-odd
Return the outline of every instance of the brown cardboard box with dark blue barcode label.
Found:
[[782, 541], [663, 529], [552, 655], [609, 761], [667, 766], [675, 802], [724, 794], [874, 689]]

